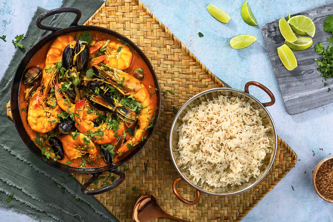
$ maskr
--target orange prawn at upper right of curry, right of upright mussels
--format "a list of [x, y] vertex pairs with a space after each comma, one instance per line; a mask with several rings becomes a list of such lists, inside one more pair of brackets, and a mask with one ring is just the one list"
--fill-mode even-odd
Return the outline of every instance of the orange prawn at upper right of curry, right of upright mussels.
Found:
[[[89, 53], [96, 53], [106, 43], [106, 40], [97, 42], [90, 48]], [[133, 53], [131, 52], [130, 47], [128, 45], [123, 45], [121, 41], [109, 41], [104, 52], [105, 55], [93, 58], [90, 61], [90, 65], [94, 66], [102, 62], [107, 66], [116, 67], [120, 70], [127, 69], [131, 65]]]

